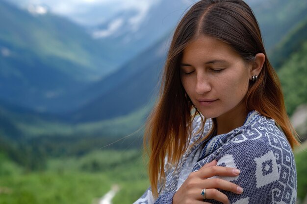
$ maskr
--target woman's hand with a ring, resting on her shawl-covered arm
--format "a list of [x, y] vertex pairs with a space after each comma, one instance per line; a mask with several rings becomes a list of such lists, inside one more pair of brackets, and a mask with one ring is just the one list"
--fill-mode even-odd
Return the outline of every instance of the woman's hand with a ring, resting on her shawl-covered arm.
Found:
[[207, 179], [216, 175], [235, 177], [240, 173], [238, 169], [216, 166], [216, 163], [217, 161], [213, 160], [197, 172], [192, 172], [175, 193], [173, 204], [209, 204], [203, 202], [201, 192], [204, 188], [206, 199], [213, 199], [223, 204], [229, 204], [228, 197], [217, 188], [241, 194], [243, 189], [232, 182], [222, 179]]

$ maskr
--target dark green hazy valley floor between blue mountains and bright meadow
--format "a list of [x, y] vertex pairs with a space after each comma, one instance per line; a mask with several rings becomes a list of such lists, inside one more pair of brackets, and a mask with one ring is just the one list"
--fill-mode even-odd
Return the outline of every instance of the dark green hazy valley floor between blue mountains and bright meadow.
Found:
[[139, 148], [142, 125], [150, 109], [147, 106], [109, 120], [71, 124], [12, 105], [0, 105], [0, 149], [31, 170], [44, 169], [49, 157], [85, 155], [104, 146]]

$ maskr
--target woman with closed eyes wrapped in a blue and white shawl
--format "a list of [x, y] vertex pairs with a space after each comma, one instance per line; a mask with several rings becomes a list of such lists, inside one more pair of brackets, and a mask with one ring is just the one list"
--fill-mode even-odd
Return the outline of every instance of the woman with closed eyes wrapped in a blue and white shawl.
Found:
[[151, 188], [136, 204], [294, 204], [296, 144], [279, 79], [243, 0], [180, 21], [145, 132]]

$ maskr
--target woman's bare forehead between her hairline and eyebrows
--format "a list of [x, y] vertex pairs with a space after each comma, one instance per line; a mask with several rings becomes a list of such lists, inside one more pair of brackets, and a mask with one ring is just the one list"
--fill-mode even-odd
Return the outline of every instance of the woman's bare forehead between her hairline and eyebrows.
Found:
[[182, 60], [230, 60], [241, 58], [230, 45], [210, 36], [199, 36], [191, 41], [183, 50]]

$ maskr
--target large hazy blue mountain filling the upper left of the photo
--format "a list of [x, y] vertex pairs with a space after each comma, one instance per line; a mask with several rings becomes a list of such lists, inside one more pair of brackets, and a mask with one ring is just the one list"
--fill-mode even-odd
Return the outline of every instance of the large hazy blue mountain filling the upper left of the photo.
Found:
[[32, 15], [0, 0], [0, 26], [0, 99], [19, 106], [69, 109], [68, 95], [118, 66], [104, 56], [107, 47], [62, 17]]

